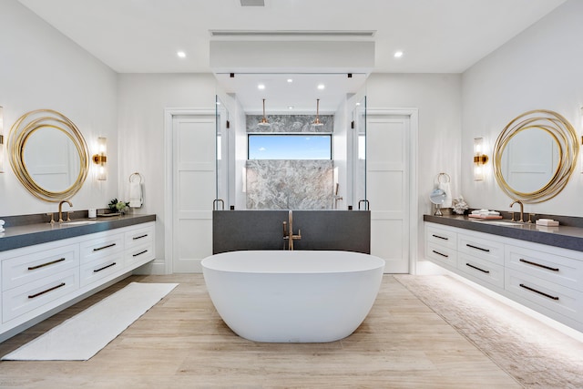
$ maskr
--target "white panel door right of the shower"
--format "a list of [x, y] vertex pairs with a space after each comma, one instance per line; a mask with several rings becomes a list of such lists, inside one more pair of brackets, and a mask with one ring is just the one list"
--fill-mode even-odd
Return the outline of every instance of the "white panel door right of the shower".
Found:
[[367, 114], [366, 197], [371, 210], [371, 254], [385, 272], [409, 272], [410, 117]]

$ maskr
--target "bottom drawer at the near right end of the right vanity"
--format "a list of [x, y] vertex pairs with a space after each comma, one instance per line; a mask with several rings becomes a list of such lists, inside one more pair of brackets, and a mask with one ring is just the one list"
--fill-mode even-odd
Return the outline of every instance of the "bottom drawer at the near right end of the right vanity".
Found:
[[583, 292], [514, 269], [506, 270], [505, 287], [507, 292], [516, 294], [522, 300], [581, 321]]

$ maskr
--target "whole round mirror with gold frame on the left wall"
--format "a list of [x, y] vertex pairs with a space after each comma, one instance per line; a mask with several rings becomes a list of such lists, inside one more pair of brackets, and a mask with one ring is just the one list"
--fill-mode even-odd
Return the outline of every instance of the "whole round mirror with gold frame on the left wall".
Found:
[[8, 142], [16, 177], [38, 199], [66, 200], [83, 186], [87, 144], [63, 114], [50, 109], [26, 113], [11, 128]]

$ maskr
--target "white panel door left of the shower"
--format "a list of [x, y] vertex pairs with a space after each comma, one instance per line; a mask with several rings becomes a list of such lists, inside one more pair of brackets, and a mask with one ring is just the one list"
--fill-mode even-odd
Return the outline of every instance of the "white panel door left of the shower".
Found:
[[173, 117], [173, 272], [199, 272], [212, 254], [215, 139], [214, 116]]

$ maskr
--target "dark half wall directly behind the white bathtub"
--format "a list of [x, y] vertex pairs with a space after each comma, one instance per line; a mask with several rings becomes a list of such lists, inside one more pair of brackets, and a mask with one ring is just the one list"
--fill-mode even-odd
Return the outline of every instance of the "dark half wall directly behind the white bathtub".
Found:
[[[212, 251], [283, 250], [288, 210], [215, 210]], [[363, 210], [293, 210], [295, 250], [371, 252], [371, 213]]]

